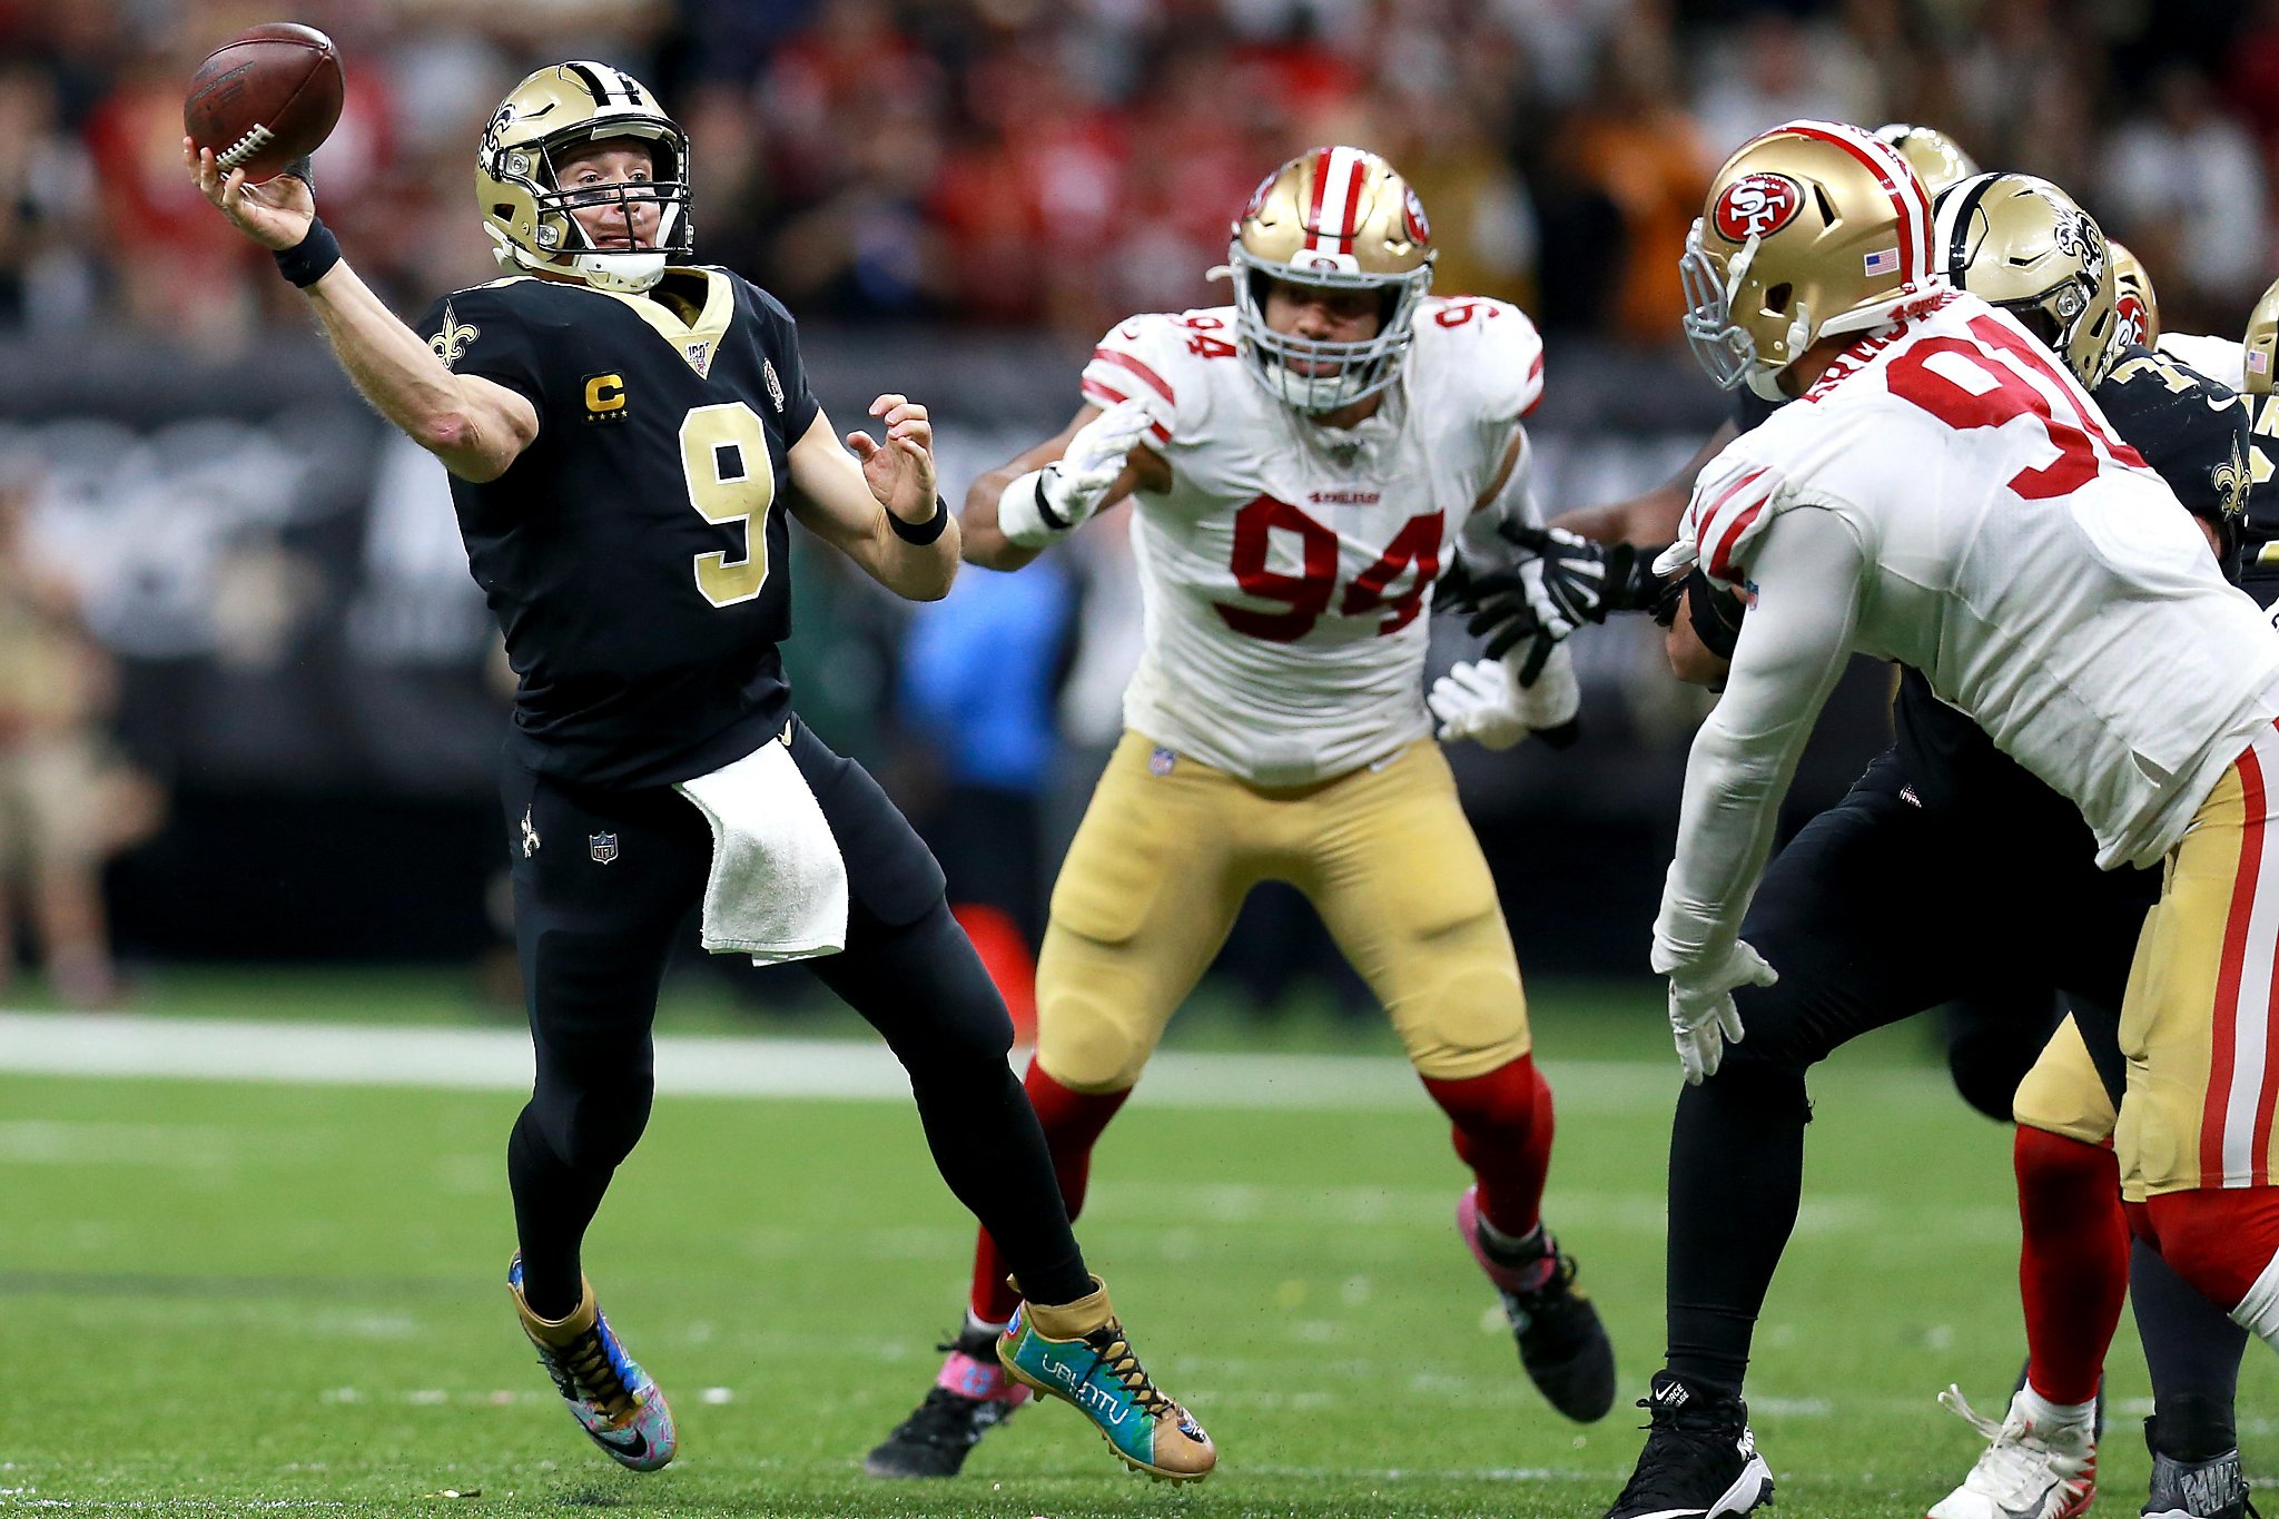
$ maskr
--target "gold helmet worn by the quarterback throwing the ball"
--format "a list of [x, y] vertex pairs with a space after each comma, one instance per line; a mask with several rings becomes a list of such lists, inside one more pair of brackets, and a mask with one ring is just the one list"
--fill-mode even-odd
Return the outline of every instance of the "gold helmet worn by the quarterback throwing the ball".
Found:
[[[565, 191], [554, 157], [570, 146], [634, 137], [650, 146], [645, 182]], [[688, 225], [688, 134], [640, 80], [608, 64], [540, 68], [490, 114], [474, 162], [474, 196], [492, 255], [508, 271], [545, 271], [595, 289], [643, 292], [665, 260], [693, 246]], [[572, 207], [661, 203], [654, 248], [597, 248]]]

